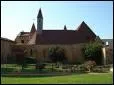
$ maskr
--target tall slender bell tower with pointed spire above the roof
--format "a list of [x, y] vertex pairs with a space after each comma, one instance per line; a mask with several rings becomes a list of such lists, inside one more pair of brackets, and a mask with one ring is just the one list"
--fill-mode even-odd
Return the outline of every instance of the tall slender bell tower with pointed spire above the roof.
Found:
[[39, 9], [38, 15], [37, 15], [37, 32], [38, 34], [42, 34], [43, 30], [43, 16], [41, 8]]

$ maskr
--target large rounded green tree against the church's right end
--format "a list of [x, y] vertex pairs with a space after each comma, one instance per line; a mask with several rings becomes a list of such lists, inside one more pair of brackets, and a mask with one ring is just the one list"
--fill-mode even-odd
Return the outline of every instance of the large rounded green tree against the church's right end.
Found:
[[102, 60], [102, 44], [99, 42], [90, 42], [82, 49], [85, 60], [94, 60], [97, 64], [101, 64]]

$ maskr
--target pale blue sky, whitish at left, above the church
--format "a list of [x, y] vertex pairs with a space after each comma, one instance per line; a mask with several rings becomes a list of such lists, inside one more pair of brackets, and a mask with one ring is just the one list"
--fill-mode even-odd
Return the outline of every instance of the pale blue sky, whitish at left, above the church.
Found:
[[33, 22], [37, 28], [40, 8], [44, 30], [76, 30], [84, 21], [101, 39], [113, 38], [112, 1], [1, 1], [1, 37], [15, 40]]

